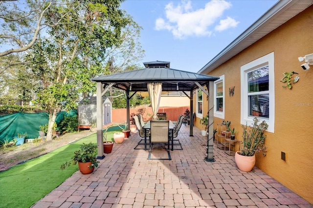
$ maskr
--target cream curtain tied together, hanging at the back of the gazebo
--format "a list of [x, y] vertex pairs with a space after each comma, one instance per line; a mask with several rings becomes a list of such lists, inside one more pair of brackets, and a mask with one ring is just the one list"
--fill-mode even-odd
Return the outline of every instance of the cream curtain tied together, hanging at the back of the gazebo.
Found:
[[153, 111], [152, 120], [158, 120], [158, 117], [156, 116], [158, 107], [160, 104], [161, 99], [161, 93], [162, 93], [162, 83], [152, 82], [148, 83], [148, 92], [151, 102], [151, 107]]

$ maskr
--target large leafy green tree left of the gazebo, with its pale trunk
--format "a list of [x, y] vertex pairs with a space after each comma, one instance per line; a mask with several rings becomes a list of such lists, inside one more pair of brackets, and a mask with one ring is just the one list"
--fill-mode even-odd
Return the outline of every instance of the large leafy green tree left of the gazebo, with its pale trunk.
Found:
[[[122, 1], [0, 1], [0, 44], [12, 46], [0, 52], [0, 71], [21, 65], [21, 82], [32, 80], [32, 91], [20, 92], [49, 112], [47, 139], [61, 109], [96, 91], [90, 78], [135, 69], [142, 58], [141, 27], [119, 9]], [[9, 57], [17, 52], [22, 60]]]

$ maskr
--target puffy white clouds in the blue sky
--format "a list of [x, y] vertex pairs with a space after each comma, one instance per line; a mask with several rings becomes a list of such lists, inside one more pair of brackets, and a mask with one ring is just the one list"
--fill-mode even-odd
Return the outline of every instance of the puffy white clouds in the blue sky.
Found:
[[[231, 3], [225, 0], [211, 0], [205, 4], [204, 8], [193, 10], [191, 3], [190, 0], [182, 0], [177, 6], [172, 2], [168, 3], [165, 6], [166, 19], [158, 18], [155, 29], [168, 30], [179, 39], [188, 36], [210, 36], [212, 31], [209, 27], [214, 25], [224, 11], [231, 7]], [[222, 31], [238, 24], [235, 20], [229, 21], [228, 18], [223, 21], [216, 26], [217, 30]]]

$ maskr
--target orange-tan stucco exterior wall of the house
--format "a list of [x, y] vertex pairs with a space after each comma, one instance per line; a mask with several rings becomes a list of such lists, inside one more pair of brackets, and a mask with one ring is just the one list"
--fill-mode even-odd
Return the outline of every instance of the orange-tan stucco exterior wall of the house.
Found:
[[[209, 75], [224, 74], [224, 120], [231, 121], [231, 128], [241, 127], [241, 67], [269, 53], [274, 53], [275, 127], [267, 132], [267, 155], [256, 155], [256, 166], [313, 204], [313, 66], [303, 70], [298, 57], [313, 53], [313, 6], [249, 46]], [[280, 80], [284, 72], [295, 71], [300, 77], [292, 89]], [[233, 96], [228, 88], [235, 86]], [[206, 100], [204, 99], [204, 102]], [[203, 105], [206, 106], [206, 105]], [[205, 111], [203, 111], [205, 112]], [[199, 119], [196, 126], [201, 128]], [[214, 129], [223, 119], [214, 118]], [[236, 147], [239, 148], [239, 147]], [[286, 153], [286, 161], [281, 160]], [[228, 157], [228, 156], [225, 156]]]

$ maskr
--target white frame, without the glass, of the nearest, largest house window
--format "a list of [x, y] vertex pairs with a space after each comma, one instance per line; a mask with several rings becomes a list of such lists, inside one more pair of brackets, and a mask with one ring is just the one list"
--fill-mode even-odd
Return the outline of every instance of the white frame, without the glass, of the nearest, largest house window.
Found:
[[258, 117], [259, 121], [265, 120], [268, 124], [267, 132], [274, 133], [275, 124], [275, 79], [274, 79], [274, 52], [262, 56], [241, 67], [241, 124], [252, 125], [255, 116], [249, 116], [248, 79], [247, 73], [268, 65], [268, 95], [269, 117]]

